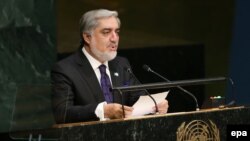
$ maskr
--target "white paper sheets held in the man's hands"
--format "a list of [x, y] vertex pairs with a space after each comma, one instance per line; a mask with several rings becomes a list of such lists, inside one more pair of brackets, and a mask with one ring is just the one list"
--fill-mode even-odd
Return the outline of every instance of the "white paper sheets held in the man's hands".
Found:
[[[155, 99], [156, 103], [162, 102], [168, 95], [169, 91], [151, 94], [151, 96]], [[153, 100], [148, 95], [140, 96], [137, 102], [133, 105], [133, 113], [131, 116], [143, 116], [146, 114], [153, 113], [153, 107], [155, 104]]]

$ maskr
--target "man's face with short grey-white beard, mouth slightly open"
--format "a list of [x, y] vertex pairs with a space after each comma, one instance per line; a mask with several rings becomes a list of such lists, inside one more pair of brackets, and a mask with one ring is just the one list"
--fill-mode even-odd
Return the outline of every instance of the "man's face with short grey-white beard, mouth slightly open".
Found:
[[98, 20], [98, 26], [89, 35], [87, 51], [100, 62], [115, 58], [119, 43], [119, 25], [115, 17]]

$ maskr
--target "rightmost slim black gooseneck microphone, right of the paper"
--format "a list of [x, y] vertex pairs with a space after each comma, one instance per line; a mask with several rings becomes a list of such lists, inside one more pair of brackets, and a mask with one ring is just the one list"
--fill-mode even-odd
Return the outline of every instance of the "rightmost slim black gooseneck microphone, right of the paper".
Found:
[[[158, 77], [162, 78], [163, 80], [165, 80], [167, 82], [171, 82], [170, 80], [163, 77], [159, 73], [153, 71], [148, 65], [143, 65], [143, 69], [146, 70], [147, 72], [152, 72], [153, 74], [157, 75]], [[177, 88], [180, 89], [181, 91], [185, 92], [186, 94], [190, 95], [194, 99], [195, 104], [196, 104], [196, 111], [199, 111], [200, 108], [199, 108], [199, 104], [198, 104], [196, 97], [191, 92], [187, 91], [186, 89], [182, 88], [181, 86], [177, 86]]]

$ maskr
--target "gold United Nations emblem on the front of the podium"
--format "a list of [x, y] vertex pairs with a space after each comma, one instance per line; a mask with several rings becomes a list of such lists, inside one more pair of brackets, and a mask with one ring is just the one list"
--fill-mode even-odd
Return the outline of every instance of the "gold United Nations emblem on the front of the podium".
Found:
[[183, 122], [176, 133], [177, 141], [220, 141], [220, 132], [217, 126], [209, 120], [193, 120]]

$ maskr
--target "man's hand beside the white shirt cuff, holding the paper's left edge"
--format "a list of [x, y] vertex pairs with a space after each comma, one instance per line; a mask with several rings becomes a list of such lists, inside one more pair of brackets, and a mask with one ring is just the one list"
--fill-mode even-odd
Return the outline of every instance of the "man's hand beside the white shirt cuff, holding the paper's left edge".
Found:
[[[125, 117], [129, 117], [132, 111], [132, 107], [124, 106]], [[104, 117], [110, 119], [123, 118], [122, 105], [118, 103], [104, 105]]]

